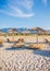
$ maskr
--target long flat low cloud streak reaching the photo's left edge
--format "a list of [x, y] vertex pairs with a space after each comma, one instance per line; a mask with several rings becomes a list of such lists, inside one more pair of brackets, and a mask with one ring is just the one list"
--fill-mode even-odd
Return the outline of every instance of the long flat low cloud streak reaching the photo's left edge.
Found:
[[32, 17], [35, 15], [35, 13], [11, 13], [11, 12], [7, 12], [4, 10], [0, 10], [1, 13], [8, 14], [8, 15], [12, 15], [15, 17]]

